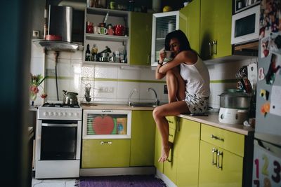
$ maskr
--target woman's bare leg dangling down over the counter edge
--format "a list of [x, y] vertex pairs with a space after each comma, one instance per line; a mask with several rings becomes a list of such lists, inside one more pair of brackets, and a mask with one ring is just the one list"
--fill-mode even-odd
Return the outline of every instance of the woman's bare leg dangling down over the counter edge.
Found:
[[188, 113], [188, 105], [185, 101], [172, 102], [157, 106], [153, 111], [153, 118], [162, 137], [162, 153], [159, 162], [165, 162], [169, 156], [169, 123], [165, 116], [176, 116], [180, 113]]

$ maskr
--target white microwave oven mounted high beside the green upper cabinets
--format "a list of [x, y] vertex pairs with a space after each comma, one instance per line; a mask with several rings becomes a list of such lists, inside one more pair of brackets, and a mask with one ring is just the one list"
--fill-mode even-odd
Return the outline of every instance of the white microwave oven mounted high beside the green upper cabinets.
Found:
[[242, 44], [259, 39], [260, 5], [233, 15], [231, 44]]

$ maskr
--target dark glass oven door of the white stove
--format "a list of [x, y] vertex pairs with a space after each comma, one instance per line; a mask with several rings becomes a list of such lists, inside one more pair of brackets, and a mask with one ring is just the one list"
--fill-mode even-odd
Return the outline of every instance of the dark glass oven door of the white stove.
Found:
[[81, 121], [39, 120], [38, 160], [79, 160]]

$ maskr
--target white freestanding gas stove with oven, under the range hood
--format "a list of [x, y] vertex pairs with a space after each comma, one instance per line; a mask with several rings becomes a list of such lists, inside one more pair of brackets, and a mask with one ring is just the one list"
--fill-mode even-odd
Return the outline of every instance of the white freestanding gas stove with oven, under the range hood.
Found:
[[81, 158], [79, 106], [39, 106], [35, 153], [35, 178], [79, 177]]

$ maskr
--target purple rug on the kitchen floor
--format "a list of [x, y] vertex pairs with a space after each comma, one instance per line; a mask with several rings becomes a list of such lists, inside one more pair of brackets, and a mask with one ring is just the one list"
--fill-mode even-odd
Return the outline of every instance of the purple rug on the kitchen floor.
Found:
[[166, 184], [154, 175], [82, 177], [79, 184], [79, 187], [166, 187]]

